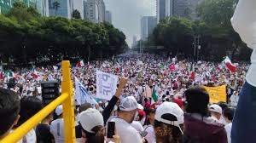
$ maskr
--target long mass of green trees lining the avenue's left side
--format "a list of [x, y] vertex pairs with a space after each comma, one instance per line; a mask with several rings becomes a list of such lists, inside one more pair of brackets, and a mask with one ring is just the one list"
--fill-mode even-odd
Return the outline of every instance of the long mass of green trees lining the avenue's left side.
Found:
[[0, 14], [0, 57], [16, 64], [95, 60], [127, 49], [125, 35], [110, 24], [63, 17], [41, 17], [34, 8], [15, 3]]

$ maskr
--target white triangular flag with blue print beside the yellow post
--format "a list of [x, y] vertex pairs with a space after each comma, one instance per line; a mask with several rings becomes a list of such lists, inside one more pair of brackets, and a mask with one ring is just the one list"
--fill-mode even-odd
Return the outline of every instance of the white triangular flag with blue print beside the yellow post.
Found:
[[92, 106], [94, 106], [97, 104], [96, 100], [84, 88], [83, 84], [79, 82], [79, 79], [77, 77], [75, 77], [75, 101], [77, 105], [90, 103]]

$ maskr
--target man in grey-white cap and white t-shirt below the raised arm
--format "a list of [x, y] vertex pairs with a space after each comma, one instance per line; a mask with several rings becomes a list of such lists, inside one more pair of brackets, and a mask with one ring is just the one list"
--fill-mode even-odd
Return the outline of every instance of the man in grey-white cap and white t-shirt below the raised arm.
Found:
[[125, 97], [119, 105], [119, 117], [113, 118], [121, 143], [140, 143], [141, 135], [131, 126], [137, 112], [137, 100], [133, 96]]

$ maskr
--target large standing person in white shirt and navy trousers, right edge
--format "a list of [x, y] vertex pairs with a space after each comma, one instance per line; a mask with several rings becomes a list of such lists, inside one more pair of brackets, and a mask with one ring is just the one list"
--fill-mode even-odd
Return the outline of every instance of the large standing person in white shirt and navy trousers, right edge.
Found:
[[247, 72], [246, 82], [239, 94], [233, 119], [232, 143], [256, 142], [256, 1], [239, 0], [231, 19], [234, 30], [240, 35], [247, 47], [253, 49], [251, 66]]

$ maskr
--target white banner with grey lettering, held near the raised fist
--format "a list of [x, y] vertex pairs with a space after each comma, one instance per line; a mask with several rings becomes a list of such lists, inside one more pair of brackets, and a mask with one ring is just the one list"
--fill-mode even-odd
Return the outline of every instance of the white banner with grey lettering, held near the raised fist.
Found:
[[117, 89], [118, 77], [106, 72], [96, 71], [96, 97], [110, 100]]

